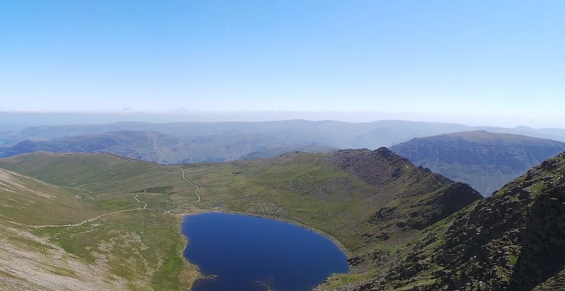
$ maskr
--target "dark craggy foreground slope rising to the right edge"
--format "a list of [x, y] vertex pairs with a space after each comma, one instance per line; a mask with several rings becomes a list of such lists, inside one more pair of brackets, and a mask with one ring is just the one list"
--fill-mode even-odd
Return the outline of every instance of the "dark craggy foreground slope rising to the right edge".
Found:
[[[458, 209], [393, 252], [376, 247], [374, 275], [348, 290], [565, 290], [565, 153]], [[374, 217], [391, 220], [387, 208]]]

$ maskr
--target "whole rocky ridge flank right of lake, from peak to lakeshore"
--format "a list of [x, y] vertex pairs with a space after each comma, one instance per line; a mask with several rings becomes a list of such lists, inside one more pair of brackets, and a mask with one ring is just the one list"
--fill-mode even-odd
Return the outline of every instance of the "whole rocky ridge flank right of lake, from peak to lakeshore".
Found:
[[414, 245], [407, 244], [428, 227], [482, 198], [468, 184], [417, 167], [387, 148], [340, 150], [330, 155], [328, 162], [374, 187], [369, 194], [374, 212], [359, 225], [364, 231], [359, 251], [349, 260], [352, 272], [369, 270], [371, 278], [341, 290], [403, 286], [403, 280], [422, 267], [396, 269], [402, 258], [412, 253]]

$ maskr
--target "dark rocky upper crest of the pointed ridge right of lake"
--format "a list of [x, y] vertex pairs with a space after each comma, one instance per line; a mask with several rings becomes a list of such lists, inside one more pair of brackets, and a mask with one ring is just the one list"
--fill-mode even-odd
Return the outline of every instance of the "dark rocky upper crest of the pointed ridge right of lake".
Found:
[[381, 227], [421, 230], [481, 198], [469, 185], [416, 167], [388, 148], [340, 150], [330, 162], [375, 187], [381, 208], [368, 222]]

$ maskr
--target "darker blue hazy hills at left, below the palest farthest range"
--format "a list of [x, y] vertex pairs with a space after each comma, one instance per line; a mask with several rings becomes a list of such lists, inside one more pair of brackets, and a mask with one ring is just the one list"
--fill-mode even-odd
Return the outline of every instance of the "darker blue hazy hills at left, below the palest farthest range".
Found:
[[[280, 144], [286, 143], [275, 136], [261, 134], [176, 137], [154, 131], [114, 131], [93, 135], [64, 136], [47, 141], [21, 141], [15, 145], [0, 148], [0, 158], [21, 153], [47, 151], [112, 153], [124, 158], [160, 164], [220, 162], [236, 160], [242, 158], [242, 155]], [[308, 145], [299, 149], [310, 151]]]

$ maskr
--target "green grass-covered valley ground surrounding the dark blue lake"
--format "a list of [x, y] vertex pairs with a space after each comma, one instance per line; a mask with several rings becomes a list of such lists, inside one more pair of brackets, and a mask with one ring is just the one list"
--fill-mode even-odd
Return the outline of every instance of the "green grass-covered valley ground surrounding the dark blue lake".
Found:
[[[372, 155], [371, 151], [363, 153]], [[233, 211], [313, 227], [337, 239], [355, 260], [350, 261], [352, 271], [349, 274], [334, 276], [321, 287], [323, 289], [351, 290], [362, 287], [359, 282], [382, 280], [387, 272], [398, 275], [393, 262], [412, 253], [417, 244], [410, 242], [424, 233], [410, 227], [410, 223], [423, 223], [417, 220], [419, 216], [414, 210], [420, 209], [421, 201], [425, 201], [428, 204], [423, 206], [432, 208], [422, 209], [430, 213], [436, 211], [434, 196], [445, 193], [452, 182], [438, 181], [439, 177], [408, 161], [400, 159], [398, 164], [396, 160], [382, 158], [376, 160], [382, 169], [368, 172], [369, 176], [372, 170], [381, 172], [387, 178], [378, 179], [386, 185], [374, 185], [364, 181], [359, 173], [328, 162], [332, 155], [294, 153], [268, 160], [182, 165], [186, 177], [201, 186], [199, 203], [190, 203], [195, 199], [194, 188], [182, 179], [178, 167], [113, 155], [35, 153], [2, 159], [0, 167], [71, 187], [69, 189], [92, 191], [95, 202], [91, 203], [95, 210], [136, 208], [139, 204], [130, 193], [160, 191], [163, 193], [143, 193], [139, 198], [149, 203], [150, 208], [175, 213]], [[396, 172], [396, 176], [390, 178], [392, 172]], [[391, 218], [371, 222], [371, 217], [382, 209], [391, 209]], [[424, 222], [433, 223], [441, 215], [422, 217], [426, 217]], [[436, 226], [439, 230], [441, 225], [448, 225], [444, 220], [439, 223], [440, 226]], [[126, 278], [132, 288], [148, 285], [138, 275], [147, 274], [147, 266], [164, 266], [148, 275], [149, 285], [156, 289], [180, 287], [182, 284], [174, 285], [178, 282], [175, 277], [184, 275], [183, 280], [188, 280], [190, 275], [193, 278], [195, 275], [191, 273], [194, 268], [181, 268], [179, 252], [184, 242], [179, 235], [179, 220], [162, 211], [121, 213], [81, 227], [49, 228], [37, 234], [46, 235], [88, 262], [93, 262], [97, 254], [115, 257], [113, 263], [108, 262], [109, 269]], [[162, 254], [150, 254], [155, 249]], [[403, 278], [394, 280], [398, 281], [398, 286], [408, 284]]]

